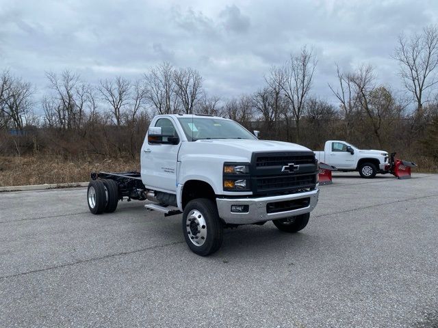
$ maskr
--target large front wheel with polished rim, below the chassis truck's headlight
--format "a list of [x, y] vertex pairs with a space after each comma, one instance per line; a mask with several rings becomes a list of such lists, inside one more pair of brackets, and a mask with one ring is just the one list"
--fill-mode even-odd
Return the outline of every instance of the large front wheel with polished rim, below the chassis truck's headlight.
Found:
[[188, 202], [182, 223], [185, 242], [195, 254], [207, 256], [222, 245], [222, 221], [216, 204], [211, 200], [198, 198]]

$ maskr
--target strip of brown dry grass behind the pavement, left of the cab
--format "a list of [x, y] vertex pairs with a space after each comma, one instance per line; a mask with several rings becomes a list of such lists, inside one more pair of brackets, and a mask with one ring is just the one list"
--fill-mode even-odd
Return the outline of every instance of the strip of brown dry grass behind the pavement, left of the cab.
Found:
[[0, 187], [83, 182], [90, 172], [138, 171], [138, 159], [62, 159], [61, 156], [0, 156]]

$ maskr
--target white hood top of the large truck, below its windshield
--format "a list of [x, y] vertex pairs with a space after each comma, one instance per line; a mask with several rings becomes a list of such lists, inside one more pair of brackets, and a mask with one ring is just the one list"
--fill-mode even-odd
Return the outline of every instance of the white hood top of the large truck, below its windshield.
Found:
[[227, 146], [236, 148], [242, 152], [284, 152], [284, 151], [309, 151], [296, 143], [271, 141], [271, 140], [252, 140], [252, 139], [207, 139], [198, 140], [195, 143], [208, 143], [211, 147]]

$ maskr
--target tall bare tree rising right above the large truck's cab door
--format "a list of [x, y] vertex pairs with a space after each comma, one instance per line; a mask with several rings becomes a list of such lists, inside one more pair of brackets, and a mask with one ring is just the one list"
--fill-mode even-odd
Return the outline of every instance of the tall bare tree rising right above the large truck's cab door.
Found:
[[177, 113], [179, 110], [174, 71], [172, 65], [164, 62], [144, 74], [146, 100], [159, 114]]

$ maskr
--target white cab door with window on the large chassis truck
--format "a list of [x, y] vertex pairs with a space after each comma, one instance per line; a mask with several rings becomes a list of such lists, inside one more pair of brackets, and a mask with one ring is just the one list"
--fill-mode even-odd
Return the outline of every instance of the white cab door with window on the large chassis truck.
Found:
[[159, 118], [153, 126], [162, 128], [164, 134], [174, 135], [179, 141], [177, 144], [172, 144], [168, 141], [169, 137], [162, 137], [151, 143], [146, 134], [140, 155], [142, 181], [146, 187], [151, 189], [175, 193], [181, 138], [170, 118]]

